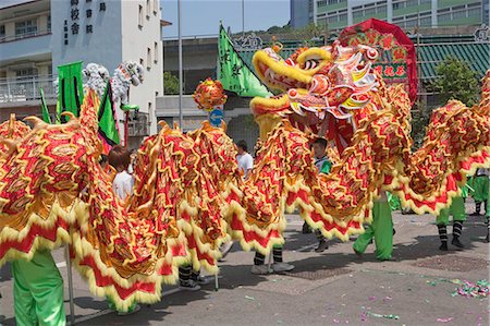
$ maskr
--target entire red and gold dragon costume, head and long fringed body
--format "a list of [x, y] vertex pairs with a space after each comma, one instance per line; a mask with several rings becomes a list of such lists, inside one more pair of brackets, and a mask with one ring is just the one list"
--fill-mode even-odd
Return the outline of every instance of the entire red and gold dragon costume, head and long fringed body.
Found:
[[[90, 89], [81, 117], [66, 124], [4, 122], [0, 264], [68, 243], [90, 290], [127, 309], [160, 300], [161, 283], [174, 282], [185, 262], [217, 273], [219, 246], [230, 237], [269, 252], [283, 242], [286, 209], [298, 207], [310, 226], [342, 240], [364, 231], [380, 190], [437, 214], [466, 173], [490, 166], [490, 72], [480, 105], [453, 100], [436, 110], [424, 146], [411, 153], [408, 97], [373, 73], [376, 56], [336, 44], [287, 60], [258, 51], [259, 76], [286, 93], [250, 104], [261, 149], [246, 181], [224, 125], [184, 134], [162, 124], [138, 149], [133, 195], [119, 201], [113, 176], [98, 164], [99, 99]], [[328, 176], [317, 174], [311, 133], [339, 148]]]

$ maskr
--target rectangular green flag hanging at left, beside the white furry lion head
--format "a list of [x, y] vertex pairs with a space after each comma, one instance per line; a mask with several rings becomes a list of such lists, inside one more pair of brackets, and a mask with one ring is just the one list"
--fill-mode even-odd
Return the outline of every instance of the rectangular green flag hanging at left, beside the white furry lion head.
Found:
[[59, 65], [57, 123], [66, 122], [66, 117], [61, 117], [64, 111], [78, 117], [83, 99], [82, 61]]

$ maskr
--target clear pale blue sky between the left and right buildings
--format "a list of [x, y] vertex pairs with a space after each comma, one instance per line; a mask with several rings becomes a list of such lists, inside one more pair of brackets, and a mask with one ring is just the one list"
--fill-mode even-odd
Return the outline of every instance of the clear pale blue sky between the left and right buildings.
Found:
[[[245, 1], [245, 31], [283, 26], [290, 21], [290, 0]], [[162, 19], [172, 23], [163, 27], [163, 37], [177, 35], [177, 1], [161, 0]], [[217, 35], [220, 20], [232, 33], [242, 32], [242, 0], [181, 0], [182, 36]]]

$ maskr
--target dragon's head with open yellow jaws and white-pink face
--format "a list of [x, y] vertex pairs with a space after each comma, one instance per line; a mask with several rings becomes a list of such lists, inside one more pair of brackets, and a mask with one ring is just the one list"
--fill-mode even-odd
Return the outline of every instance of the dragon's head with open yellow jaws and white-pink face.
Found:
[[[283, 92], [250, 101], [261, 137], [273, 126], [271, 118], [287, 117], [296, 126], [345, 148], [360, 119], [379, 109], [372, 101], [380, 86], [372, 69], [378, 57], [373, 48], [342, 47], [338, 41], [321, 48], [299, 48], [285, 60], [271, 48], [257, 51], [253, 63], [259, 79]], [[261, 123], [265, 119], [260, 116], [268, 117], [268, 125]]]

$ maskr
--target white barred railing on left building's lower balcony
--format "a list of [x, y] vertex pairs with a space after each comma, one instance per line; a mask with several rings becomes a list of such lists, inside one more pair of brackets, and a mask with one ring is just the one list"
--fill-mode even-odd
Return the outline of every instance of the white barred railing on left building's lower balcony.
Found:
[[0, 79], [0, 102], [16, 102], [39, 100], [39, 88], [45, 92], [45, 98], [56, 98], [56, 76], [29, 76], [19, 79]]

